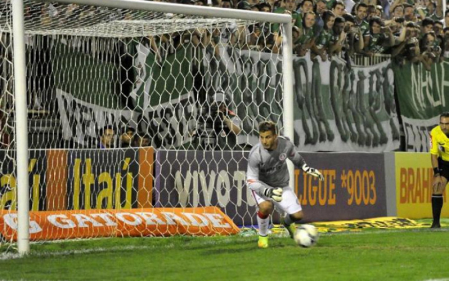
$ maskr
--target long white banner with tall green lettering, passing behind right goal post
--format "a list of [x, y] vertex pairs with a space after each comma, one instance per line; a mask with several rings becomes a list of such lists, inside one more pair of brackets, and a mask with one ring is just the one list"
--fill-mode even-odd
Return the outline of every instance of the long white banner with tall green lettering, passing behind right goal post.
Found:
[[[206, 53], [210, 67], [205, 85], [232, 89], [240, 138], [257, 142], [257, 123], [282, 124], [282, 61], [278, 55], [252, 50]], [[348, 65], [339, 58], [322, 62], [310, 56], [293, 60], [295, 144], [301, 151], [395, 151], [399, 121], [394, 100], [391, 61], [369, 67]]]

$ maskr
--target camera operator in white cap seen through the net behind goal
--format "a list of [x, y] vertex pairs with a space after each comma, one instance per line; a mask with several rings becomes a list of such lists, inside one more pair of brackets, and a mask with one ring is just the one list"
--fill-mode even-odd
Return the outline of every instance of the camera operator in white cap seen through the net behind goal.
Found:
[[224, 91], [208, 96], [201, 108], [193, 141], [203, 150], [234, 150], [241, 120], [231, 110], [231, 99]]

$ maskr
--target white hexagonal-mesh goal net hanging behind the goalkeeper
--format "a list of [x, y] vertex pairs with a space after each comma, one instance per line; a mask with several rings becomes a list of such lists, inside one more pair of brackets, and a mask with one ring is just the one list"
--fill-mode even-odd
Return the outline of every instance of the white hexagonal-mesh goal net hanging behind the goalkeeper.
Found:
[[[10, 1], [0, 15], [0, 239], [12, 242]], [[258, 122], [283, 130], [282, 24], [34, 0], [24, 19], [31, 240], [256, 224], [246, 164]]]

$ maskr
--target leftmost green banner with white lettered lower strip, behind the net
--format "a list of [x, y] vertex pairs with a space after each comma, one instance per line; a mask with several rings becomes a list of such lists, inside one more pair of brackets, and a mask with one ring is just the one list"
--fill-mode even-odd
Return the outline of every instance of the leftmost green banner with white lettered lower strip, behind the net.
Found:
[[[111, 125], [117, 132], [136, 124], [136, 113], [122, 107], [120, 65], [86, 51], [87, 46], [114, 46], [113, 39], [66, 37], [54, 39], [50, 62], [62, 126], [63, 147], [96, 148], [99, 129]], [[103, 50], [104, 49], [99, 49]], [[108, 54], [113, 50], [107, 50]], [[104, 58], [104, 56], [103, 56]], [[116, 140], [117, 142], [117, 140]]]

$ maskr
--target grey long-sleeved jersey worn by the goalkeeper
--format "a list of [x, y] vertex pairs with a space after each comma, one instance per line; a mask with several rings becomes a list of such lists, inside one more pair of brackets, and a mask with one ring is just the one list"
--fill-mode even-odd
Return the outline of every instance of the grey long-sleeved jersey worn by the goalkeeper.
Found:
[[246, 183], [251, 190], [263, 192], [266, 187], [286, 187], [289, 173], [286, 159], [297, 167], [305, 164], [304, 158], [296, 151], [293, 143], [285, 137], [278, 137], [278, 147], [267, 151], [259, 142], [250, 151]]

